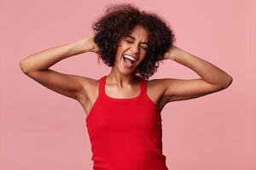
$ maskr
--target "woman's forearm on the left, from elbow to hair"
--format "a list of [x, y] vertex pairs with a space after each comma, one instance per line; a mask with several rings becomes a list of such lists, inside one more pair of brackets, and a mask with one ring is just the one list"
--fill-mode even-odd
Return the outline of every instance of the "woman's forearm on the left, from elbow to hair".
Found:
[[90, 51], [87, 39], [63, 44], [54, 48], [48, 48], [36, 54], [29, 55], [25, 59], [20, 60], [20, 68], [24, 72], [28, 71], [44, 71], [51, 65], [66, 59], [70, 56]]

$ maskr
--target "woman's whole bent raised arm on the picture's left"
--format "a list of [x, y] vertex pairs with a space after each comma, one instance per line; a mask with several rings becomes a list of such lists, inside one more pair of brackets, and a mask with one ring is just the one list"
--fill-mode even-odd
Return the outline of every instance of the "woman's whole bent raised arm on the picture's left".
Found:
[[20, 60], [20, 69], [36, 82], [44, 85], [59, 94], [72, 99], [79, 99], [81, 94], [86, 95], [86, 84], [92, 79], [49, 69], [51, 65], [76, 54], [98, 52], [94, 37], [85, 37], [79, 41], [48, 48]]

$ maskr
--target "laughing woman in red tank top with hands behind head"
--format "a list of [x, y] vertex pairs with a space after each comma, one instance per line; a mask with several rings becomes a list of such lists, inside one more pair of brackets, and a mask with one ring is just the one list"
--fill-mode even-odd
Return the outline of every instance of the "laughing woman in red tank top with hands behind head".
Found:
[[[95, 36], [22, 59], [21, 70], [83, 106], [94, 169], [167, 169], [161, 141], [163, 107], [228, 88], [232, 77], [174, 46], [174, 34], [163, 19], [131, 4], [108, 8], [93, 28]], [[49, 69], [61, 59], [85, 52], [98, 54], [112, 67], [108, 76], [95, 80]], [[163, 59], [187, 66], [201, 78], [148, 80]]]

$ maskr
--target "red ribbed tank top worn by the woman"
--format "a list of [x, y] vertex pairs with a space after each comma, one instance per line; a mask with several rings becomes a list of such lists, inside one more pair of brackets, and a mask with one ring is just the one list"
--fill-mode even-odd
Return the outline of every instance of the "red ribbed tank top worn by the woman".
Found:
[[167, 170], [162, 153], [161, 116], [148, 98], [146, 80], [140, 94], [116, 99], [105, 94], [104, 76], [99, 94], [86, 116], [94, 170]]

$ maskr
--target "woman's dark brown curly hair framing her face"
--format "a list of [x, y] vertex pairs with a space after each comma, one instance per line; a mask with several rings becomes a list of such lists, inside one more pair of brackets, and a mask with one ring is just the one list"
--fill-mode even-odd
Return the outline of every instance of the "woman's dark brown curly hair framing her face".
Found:
[[148, 50], [136, 74], [148, 80], [159, 67], [168, 48], [175, 41], [174, 33], [159, 15], [139, 10], [131, 3], [110, 4], [106, 13], [93, 23], [95, 42], [100, 48], [98, 59], [113, 66], [119, 41], [135, 26], [148, 30]]

